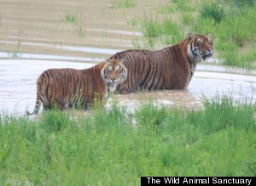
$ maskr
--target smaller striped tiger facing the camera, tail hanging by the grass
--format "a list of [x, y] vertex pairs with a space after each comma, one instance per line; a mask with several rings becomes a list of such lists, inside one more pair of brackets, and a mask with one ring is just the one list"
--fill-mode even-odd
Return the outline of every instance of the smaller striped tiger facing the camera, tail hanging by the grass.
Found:
[[44, 110], [53, 106], [61, 110], [79, 106], [88, 109], [95, 95], [101, 102], [103, 96], [113, 93], [126, 76], [127, 69], [119, 59], [109, 59], [84, 70], [45, 70], [38, 77], [35, 109], [28, 114], [38, 114], [42, 103]]

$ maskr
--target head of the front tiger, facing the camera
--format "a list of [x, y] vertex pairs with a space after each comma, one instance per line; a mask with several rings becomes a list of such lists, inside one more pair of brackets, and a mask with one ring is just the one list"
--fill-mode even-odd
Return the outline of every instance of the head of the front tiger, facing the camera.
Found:
[[101, 70], [102, 80], [108, 85], [108, 92], [113, 93], [116, 86], [124, 82], [127, 77], [127, 69], [123, 59], [107, 59]]

